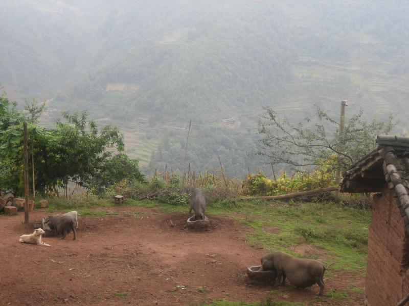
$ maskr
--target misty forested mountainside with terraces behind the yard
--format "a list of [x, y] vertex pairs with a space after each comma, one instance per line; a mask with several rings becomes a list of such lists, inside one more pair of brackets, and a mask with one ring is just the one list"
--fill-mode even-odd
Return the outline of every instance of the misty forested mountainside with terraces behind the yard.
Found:
[[[0, 0], [0, 84], [47, 100], [41, 122], [89, 110], [115, 124], [145, 171], [243, 176], [268, 105], [299, 122], [312, 105], [409, 115], [409, 4], [387, 1]], [[229, 129], [221, 120], [234, 117]], [[403, 120], [402, 120], [403, 121]], [[404, 124], [397, 133], [407, 133]], [[370, 149], [370, 148], [368, 148]]]

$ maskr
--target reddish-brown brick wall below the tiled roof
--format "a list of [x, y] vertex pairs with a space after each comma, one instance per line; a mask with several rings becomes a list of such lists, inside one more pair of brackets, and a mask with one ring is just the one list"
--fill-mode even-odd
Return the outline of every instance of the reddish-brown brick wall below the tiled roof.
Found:
[[[365, 291], [369, 306], [395, 306], [406, 293], [406, 268], [402, 267], [407, 234], [395, 200], [385, 186], [373, 198], [368, 237]], [[405, 252], [406, 253], [406, 252]], [[409, 288], [408, 288], [409, 289]]]

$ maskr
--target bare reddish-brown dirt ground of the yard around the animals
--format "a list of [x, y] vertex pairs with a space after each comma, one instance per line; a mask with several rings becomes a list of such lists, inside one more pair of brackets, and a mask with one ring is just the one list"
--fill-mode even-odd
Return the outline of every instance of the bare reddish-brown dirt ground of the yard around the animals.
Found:
[[[319, 287], [273, 288], [248, 281], [247, 266], [259, 265], [268, 251], [246, 243], [250, 227], [210, 216], [205, 232], [184, 228], [187, 214], [160, 209], [111, 208], [119, 215], [79, 217], [77, 240], [43, 237], [52, 247], [18, 243], [32, 233], [24, 213], [0, 216], [1, 305], [196, 305], [213, 299], [257, 301], [275, 290], [273, 299], [311, 305], [361, 305], [362, 294], [340, 301], [316, 298]], [[171, 222], [170, 222], [171, 221]], [[173, 226], [172, 226], [173, 225]], [[331, 271], [326, 292], [362, 287], [362, 278]], [[199, 287], [202, 287], [199, 292]]]

